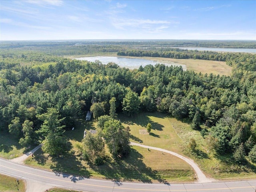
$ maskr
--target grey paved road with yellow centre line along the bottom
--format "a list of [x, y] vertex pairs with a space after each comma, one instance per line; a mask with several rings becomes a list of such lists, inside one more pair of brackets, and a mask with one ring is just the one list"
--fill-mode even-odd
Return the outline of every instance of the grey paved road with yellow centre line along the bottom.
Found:
[[0, 173], [41, 184], [45, 183], [48, 186], [93, 192], [255, 192], [256, 190], [256, 180], [204, 184], [150, 184], [95, 180], [39, 170], [2, 158], [0, 158]]

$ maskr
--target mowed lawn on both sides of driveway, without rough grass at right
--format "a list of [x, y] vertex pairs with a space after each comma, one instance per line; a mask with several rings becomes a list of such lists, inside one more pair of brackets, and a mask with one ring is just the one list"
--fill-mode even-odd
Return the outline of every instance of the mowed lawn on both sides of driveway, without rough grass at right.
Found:
[[[136, 118], [119, 116], [124, 126], [130, 126], [130, 133], [134, 142], [142, 140], [143, 144], [174, 150], [181, 153], [182, 141], [173, 130], [168, 118], [161, 113], [142, 113]], [[133, 122], [130, 122], [132, 120]], [[143, 126], [152, 124], [152, 134], [139, 134]], [[128, 157], [118, 161], [111, 158], [101, 166], [92, 166], [82, 160], [77, 153], [76, 143], [83, 138], [84, 129], [96, 129], [97, 122], [78, 120], [74, 130], [66, 131], [72, 144], [71, 153], [64, 158], [52, 159], [41, 150], [34, 153], [34, 158], [29, 157], [26, 164], [40, 167], [55, 172], [66, 172], [85, 178], [104, 178], [110, 180], [142, 181], [142, 182], [184, 182], [193, 181], [194, 172], [183, 160], [160, 151], [148, 150], [132, 146]], [[137, 131], [136, 131], [137, 130]], [[135, 139], [135, 140], [134, 140]], [[108, 151], [106, 149], [106, 151]], [[110, 156], [110, 154], [109, 154]]]

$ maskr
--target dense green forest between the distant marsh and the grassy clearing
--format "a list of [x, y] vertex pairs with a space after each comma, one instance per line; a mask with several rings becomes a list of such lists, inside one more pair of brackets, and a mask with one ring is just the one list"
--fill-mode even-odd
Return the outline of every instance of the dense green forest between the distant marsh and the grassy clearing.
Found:
[[[219, 76], [163, 64], [129, 70], [114, 63], [70, 60], [57, 56], [65, 52], [63, 47], [59, 49], [61, 54], [52, 54], [58, 49], [45, 44], [40, 48], [4, 46], [0, 54], [0, 131], [9, 132], [23, 146], [44, 142], [45, 152], [64, 154], [68, 150], [62, 147], [67, 142], [64, 130], [71, 129], [78, 117], [85, 117], [91, 110], [99, 120], [110, 152], [114, 156], [126, 155], [129, 128], [122, 127], [116, 113], [134, 116], [141, 111], [160, 111], [190, 121], [191, 129], [200, 131], [219, 154], [232, 154], [234, 162], [256, 162], [255, 54], [124, 50], [119, 45], [110, 45], [108, 49], [102, 45], [86, 47], [119, 55], [184, 55], [226, 61], [233, 68], [232, 76]], [[83, 46], [72, 49], [77, 47], [82, 50]], [[68, 55], [72, 54], [68, 51]], [[87, 137], [100, 146], [100, 136]], [[94, 154], [101, 156], [102, 147], [95, 148]], [[90, 160], [90, 155], [84, 156]], [[100, 160], [96, 157], [92, 161]]]

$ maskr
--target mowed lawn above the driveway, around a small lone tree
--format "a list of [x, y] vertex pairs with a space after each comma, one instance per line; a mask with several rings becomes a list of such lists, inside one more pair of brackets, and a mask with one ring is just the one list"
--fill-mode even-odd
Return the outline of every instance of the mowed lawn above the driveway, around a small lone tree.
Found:
[[[166, 114], [154, 112], [140, 113], [133, 117], [127, 117], [125, 115], [120, 115], [119, 117], [124, 126], [130, 127], [131, 141], [142, 141], [144, 145], [163, 148], [182, 154], [183, 142], [176, 134], [170, 118]], [[146, 132], [148, 123], [152, 125], [150, 134]], [[182, 122], [178, 123], [181, 124], [179, 126], [185, 126], [185, 124], [182, 125]]]

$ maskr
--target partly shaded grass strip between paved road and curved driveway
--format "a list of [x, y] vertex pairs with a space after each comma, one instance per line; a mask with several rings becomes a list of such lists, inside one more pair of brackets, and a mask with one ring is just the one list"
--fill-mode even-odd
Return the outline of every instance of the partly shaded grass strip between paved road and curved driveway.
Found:
[[[68, 159], [68, 161], [67, 161]], [[108, 180], [141, 182], [181, 182], [193, 181], [192, 168], [179, 158], [159, 151], [133, 146], [127, 158], [113, 161], [111, 158], [101, 165], [92, 166], [78, 156], [68, 155], [52, 159], [38, 150], [34, 158], [29, 157], [26, 164], [56, 173], [72, 173], [84, 178], [104, 178]]]

